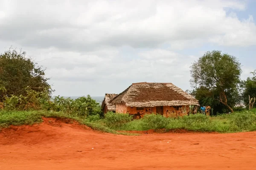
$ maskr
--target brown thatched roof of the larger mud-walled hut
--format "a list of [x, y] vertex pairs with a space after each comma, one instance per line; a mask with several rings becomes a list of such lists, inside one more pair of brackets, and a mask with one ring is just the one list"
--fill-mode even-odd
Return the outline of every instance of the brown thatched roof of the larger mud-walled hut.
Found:
[[111, 103], [131, 107], [199, 105], [191, 95], [172, 83], [133, 83], [111, 100]]

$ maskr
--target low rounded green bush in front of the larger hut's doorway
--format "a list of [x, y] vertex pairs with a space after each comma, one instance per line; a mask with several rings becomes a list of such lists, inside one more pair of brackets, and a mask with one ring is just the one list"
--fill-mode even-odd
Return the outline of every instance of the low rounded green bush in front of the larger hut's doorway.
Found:
[[168, 119], [160, 114], [146, 114], [142, 120], [149, 129], [160, 129], [168, 125]]

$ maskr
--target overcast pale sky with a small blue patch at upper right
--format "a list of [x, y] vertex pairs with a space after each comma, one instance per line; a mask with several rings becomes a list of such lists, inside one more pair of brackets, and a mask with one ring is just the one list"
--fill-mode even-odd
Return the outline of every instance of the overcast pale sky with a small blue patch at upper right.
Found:
[[133, 82], [190, 89], [204, 52], [256, 69], [255, 0], [0, 0], [0, 53], [22, 48], [55, 95], [103, 96]]

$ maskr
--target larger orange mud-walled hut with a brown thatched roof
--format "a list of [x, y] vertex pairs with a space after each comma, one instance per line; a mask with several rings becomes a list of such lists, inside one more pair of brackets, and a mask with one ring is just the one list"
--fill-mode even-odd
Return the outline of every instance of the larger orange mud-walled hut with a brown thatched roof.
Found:
[[[166, 116], [189, 113], [189, 105], [199, 105], [191, 95], [172, 83], [133, 83], [115, 96], [111, 104], [118, 113], [142, 114], [154, 112]], [[184, 109], [186, 111], [184, 111]], [[174, 115], [175, 116], [175, 115]]]

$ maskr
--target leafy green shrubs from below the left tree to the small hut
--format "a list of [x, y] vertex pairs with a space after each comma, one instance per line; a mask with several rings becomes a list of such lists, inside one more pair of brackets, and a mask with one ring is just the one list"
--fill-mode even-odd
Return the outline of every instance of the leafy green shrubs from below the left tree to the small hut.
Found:
[[[90, 95], [87, 97], [80, 97], [78, 99], [64, 98], [56, 96], [53, 100], [49, 98], [46, 91], [34, 91], [29, 87], [26, 88], [26, 96], [11, 95], [6, 97], [0, 109], [7, 111], [29, 111], [29, 110], [46, 110], [46, 111], [60, 111], [74, 116], [102, 116], [102, 111], [99, 103], [92, 99]], [[2, 107], [1, 107], [2, 105]]]

